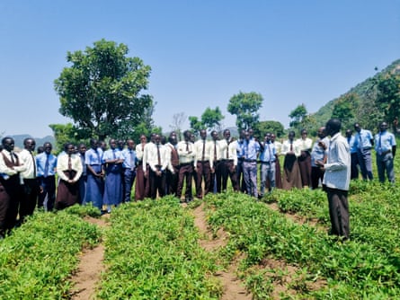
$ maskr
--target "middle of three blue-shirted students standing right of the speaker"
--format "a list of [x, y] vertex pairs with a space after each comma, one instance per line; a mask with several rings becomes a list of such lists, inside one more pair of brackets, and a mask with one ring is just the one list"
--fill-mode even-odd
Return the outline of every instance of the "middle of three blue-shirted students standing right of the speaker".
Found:
[[362, 129], [359, 123], [354, 124], [354, 129], [357, 131], [354, 138], [357, 145], [362, 179], [364, 181], [372, 181], [374, 176], [372, 175], [371, 149], [374, 146], [374, 137], [372, 137], [372, 133], [369, 130]]

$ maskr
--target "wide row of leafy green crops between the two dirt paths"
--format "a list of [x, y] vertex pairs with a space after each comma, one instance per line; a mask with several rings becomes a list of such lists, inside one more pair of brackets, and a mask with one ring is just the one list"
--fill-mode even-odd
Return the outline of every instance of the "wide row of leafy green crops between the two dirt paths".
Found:
[[106, 233], [102, 299], [217, 299], [215, 262], [200, 248], [193, 218], [178, 199], [115, 209]]

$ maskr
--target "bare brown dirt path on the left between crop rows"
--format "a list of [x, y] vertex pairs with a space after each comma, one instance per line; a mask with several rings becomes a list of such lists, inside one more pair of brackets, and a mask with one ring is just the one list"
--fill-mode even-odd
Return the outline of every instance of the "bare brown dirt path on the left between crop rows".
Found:
[[[101, 218], [87, 217], [86, 221], [105, 227], [109, 225], [107, 222], [109, 215], [104, 215]], [[77, 272], [72, 278], [74, 285], [71, 291], [71, 299], [73, 300], [89, 300], [95, 299], [95, 289], [97, 283], [100, 280], [104, 265], [102, 263], [104, 259], [104, 245], [99, 243], [93, 249], [84, 249], [80, 256], [80, 262], [77, 268]]]

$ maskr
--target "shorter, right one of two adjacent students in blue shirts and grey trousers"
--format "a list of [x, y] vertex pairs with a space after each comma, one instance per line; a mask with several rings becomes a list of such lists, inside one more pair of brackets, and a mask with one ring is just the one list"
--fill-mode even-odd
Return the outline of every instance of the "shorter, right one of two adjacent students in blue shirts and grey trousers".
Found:
[[268, 190], [275, 189], [275, 162], [276, 162], [276, 148], [271, 141], [271, 132], [265, 134], [265, 142], [261, 144], [262, 153], [260, 154], [260, 177], [261, 177], [261, 188], [259, 198], [265, 193], [266, 182], [269, 182]]

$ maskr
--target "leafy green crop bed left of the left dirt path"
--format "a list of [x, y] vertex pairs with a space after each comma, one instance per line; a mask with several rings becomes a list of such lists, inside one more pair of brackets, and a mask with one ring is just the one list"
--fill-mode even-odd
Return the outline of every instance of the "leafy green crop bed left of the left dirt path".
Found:
[[79, 216], [35, 212], [0, 242], [2, 299], [69, 298], [70, 275], [84, 246], [99, 242], [101, 232]]

